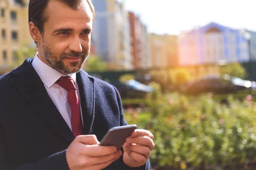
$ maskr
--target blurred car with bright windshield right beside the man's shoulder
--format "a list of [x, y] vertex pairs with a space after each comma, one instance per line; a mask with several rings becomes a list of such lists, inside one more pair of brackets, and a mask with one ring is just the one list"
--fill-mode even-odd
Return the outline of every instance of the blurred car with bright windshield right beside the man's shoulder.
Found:
[[115, 80], [111, 84], [116, 87], [122, 98], [143, 98], [146, 94], [154, 91], [151, 86], [142, 84], [134, 79], [126, 82]]

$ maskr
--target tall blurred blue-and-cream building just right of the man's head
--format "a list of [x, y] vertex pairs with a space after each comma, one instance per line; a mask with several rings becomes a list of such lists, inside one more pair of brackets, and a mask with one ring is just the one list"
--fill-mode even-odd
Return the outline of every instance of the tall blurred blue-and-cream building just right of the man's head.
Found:
[[122, 0], [93, 2], [96, 18], [93, 23], [92, 45], [96, 55], [108, 62], [110, 70], [131, 70], [131, 38], [128, 12]]

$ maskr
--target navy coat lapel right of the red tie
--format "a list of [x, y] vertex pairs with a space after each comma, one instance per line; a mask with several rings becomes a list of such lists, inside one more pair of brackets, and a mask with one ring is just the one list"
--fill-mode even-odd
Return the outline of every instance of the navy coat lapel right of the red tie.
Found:
[[84, 122], [84, 134], [88, 135], [92, 133], [94, 108], [95, 108], [95, 88], [94, 79], [88, 77], [88, 74], [84, 71], [79, 71], [76, 74], [76, 81], [79, 87], [79, 93], [81, 98], [81, 108]]

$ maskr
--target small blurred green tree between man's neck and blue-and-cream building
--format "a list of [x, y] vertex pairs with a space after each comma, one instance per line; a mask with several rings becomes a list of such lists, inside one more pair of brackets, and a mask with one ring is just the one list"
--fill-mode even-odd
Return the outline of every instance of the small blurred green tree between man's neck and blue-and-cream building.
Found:
[[85, 71], [106, 71], [107, 62], [104, 62], [99, 56], [92, 56], [87, 59], [84, 65]]

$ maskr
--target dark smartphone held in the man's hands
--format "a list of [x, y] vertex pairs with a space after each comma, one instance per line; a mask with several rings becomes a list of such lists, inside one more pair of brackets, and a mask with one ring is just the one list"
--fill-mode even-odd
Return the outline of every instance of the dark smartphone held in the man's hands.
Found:
[[99, 145], [116, 146], [117, 149], [121, 149], [122, 145], [125, 144], [125, 139], [128, 138], [136, 128], [137, 125], [113, 127], [108, 130]]

